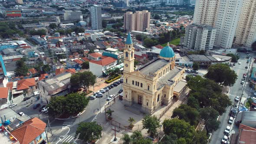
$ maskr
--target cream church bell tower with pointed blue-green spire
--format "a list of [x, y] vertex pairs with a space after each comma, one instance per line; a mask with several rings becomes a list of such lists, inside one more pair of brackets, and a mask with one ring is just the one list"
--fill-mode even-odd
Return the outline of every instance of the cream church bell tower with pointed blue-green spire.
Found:
[[124, 49], [124, 73], [134, 72], [134, 59], [134, 47], [129, 32]]

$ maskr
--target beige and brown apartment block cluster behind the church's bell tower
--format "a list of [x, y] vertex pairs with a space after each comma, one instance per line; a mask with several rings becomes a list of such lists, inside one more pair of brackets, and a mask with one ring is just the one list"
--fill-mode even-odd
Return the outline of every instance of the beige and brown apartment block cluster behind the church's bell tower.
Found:
[[126, 12], [124, 15], [124, 29], [127, 31], [144, 31], [149, 28], [150, 12], [148, 10], [136, 11], [136, 13]]

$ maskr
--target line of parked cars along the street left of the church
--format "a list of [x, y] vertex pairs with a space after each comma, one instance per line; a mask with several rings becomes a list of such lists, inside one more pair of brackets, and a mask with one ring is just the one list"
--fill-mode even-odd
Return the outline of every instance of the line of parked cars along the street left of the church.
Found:
[[[91, 96], [90, 96], [90, 99], [102, 98], [102, 97], [103, 97], [103, 94], [104, 94], [105, 92], [108, 92], [111, 88], [114, 88], [115, 86], [118, 86], [118, 85], [120, 85], [120, 84], [123, 83], [123, 82], [124, 82], [123, 79], [120, 79], [119, 81], [114, 82], [112, 85], [108, 85], [107, 87], [102, 88], [101, 90], [99, 90], [98, 92], [96, 92], [94, 95], [91, 95]], [[120, 89], [118, 93], [121, 93], [121, 92], [123, 92], [122, 89]], [[113, 97], [114, 97], [114, 95], [109, 95], [108, 98], [107, 98], [107, 101], [111, 100]]]

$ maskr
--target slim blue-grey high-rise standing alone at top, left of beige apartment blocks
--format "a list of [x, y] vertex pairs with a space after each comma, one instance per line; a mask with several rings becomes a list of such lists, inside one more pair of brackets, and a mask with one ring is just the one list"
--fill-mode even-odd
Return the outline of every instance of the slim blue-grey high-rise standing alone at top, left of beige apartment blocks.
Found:
[[94, 5], [91, 7], [92, 29], [102, 29], [102, 7]]

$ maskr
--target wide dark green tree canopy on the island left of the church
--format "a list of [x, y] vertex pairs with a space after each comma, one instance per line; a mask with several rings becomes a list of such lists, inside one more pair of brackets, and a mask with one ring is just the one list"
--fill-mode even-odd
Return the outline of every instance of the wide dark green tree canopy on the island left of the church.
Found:
[[50, 115], [77, 114], [85, 109], [89, 103], [89, 98], [84, 94], [70, 93], [65, 96], [51, 97], [49, 107]]

